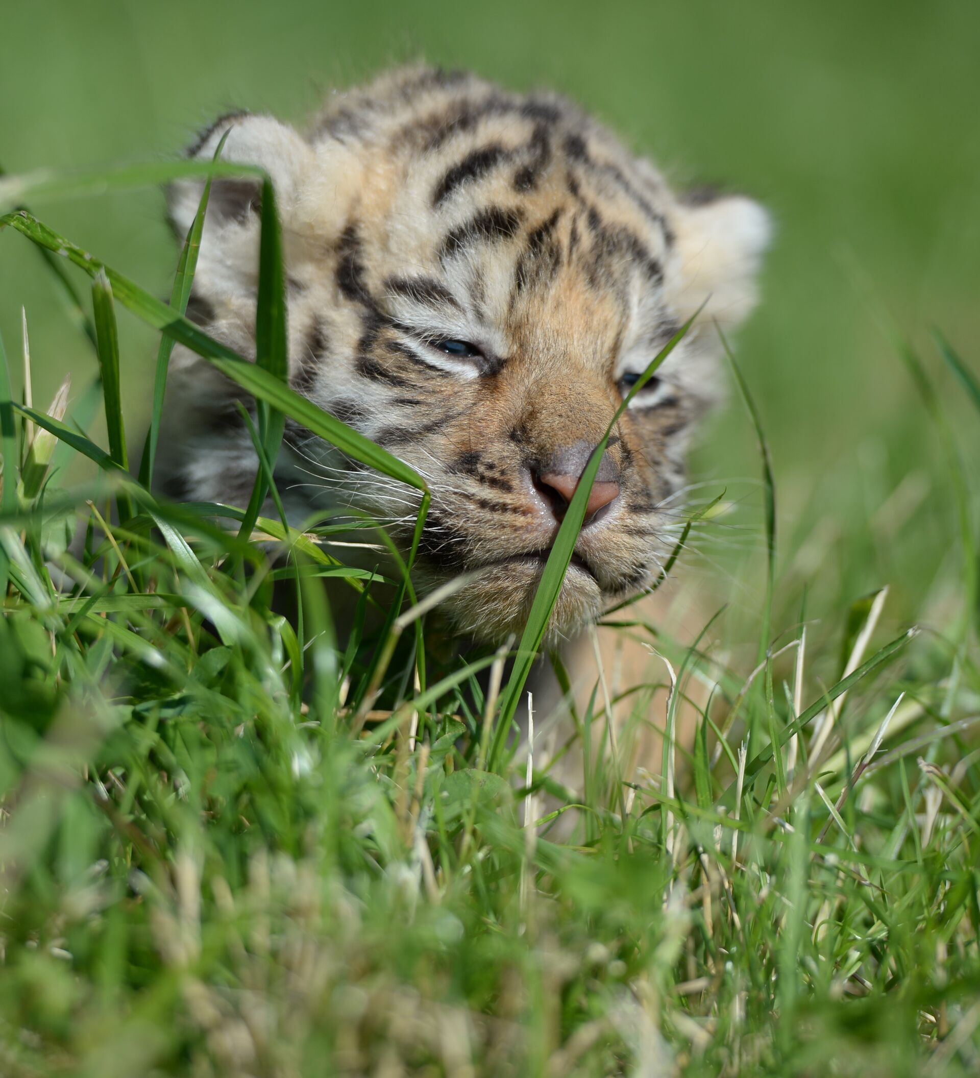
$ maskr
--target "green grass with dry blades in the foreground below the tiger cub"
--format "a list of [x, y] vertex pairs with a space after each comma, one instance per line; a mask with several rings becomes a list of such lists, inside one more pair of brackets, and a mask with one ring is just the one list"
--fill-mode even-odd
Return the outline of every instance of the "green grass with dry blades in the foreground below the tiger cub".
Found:
[[[55, 262], [51, 284], [101, 388], [43, 411], [13, 397], [15, 354], [0, 359], [0, 1073], [976, 1074], [980, 492], [961, 446], [980, 411], [954, 421], [899, 342], [895, 376], [903, 359], [941, 448], [922, 454], [928, 506], [949, 524], [919, 566], [915, 632], [880, 588], [839, 603], [845, 578], [824, 579], [847, 559], [887, 568], [909, 520], [897, 492], [870, 523], [842, 502], [837, 540], [777, 549], [764, 415], [739, 373], [761, 520], [728, 513], [718, 484], [684, 533], [710, 552], [727, 521], [751, 522], [731, 610], [690, 646], [636, 608], [609, 616], [675, 688], [654, 710], [643, 687], [597, 685], [571, 733], [582, 774], [562, 786], [558, 754], [510, 725], [548, 581], [516, 663], [463, 659], [417, 603], [411, 552], [372, 579], [314, 541], [329, 521], [258, 516], [267, 467], [245, 511], [165, 503], [124, 470], [120, 372], [138, 363], [120, 354], [120, 306], [263, 402], [266, 465], [291, 415], [419, 489], [422, 526], [424, 481], [280, 381], [271, 191], [262, 206], [258, 364], [180, 314], [193, 231], [167, 307], [27, 211], [2, 219], [4, 249], [26, 237], [93, 278], [91, 321], [83, 278], [66, 291]], [[934, 358], [980, 399], [969, 357], [940, 338]], [[86, 433], [95, 400], [108, 451]], [[570, 512], [552, 585], [577, 526]], [[349, 624], [331, 578], [359, 592]], [[388, 611], [378, 630], [368, 605]], [[673, 732], [699, 685], [710, 704], [686, 745]], [[624, 737], [647, 725], [666, 731], [662, 778], [622, 773]]]

